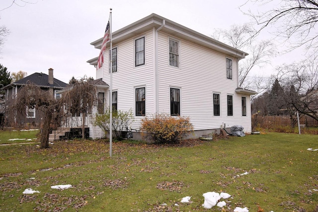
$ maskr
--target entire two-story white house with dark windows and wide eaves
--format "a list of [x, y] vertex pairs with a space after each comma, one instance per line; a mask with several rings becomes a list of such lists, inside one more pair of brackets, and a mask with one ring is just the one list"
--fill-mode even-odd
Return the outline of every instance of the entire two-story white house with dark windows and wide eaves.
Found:
[[[100, 49], [102, 40], [91, 45]], [[146, 116], [168, 113], [190, 117], [195, 137], [233, 125], [242, 125], [244, 132], [250, 133], [250, 95], [256, 92], [239, 88], [238, 62], [245, 55], [151, 14], [112, 33], [112, 104], [118, 110], [133, 109], [133, 132], [140, 130]], [[108, 85], [109, 56], [107, 43], [96, 78]], [[87, 62], [96, 66], [97, 57]], [[104, 95], [109, 105], [109, 89]]]

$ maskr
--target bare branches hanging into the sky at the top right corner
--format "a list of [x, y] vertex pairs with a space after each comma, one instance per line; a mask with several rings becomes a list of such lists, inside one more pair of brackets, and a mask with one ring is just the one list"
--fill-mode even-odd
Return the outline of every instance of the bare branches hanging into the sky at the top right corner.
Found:
[[[257, 11], [249, 9], [245, 12], [259, 26], [253, 36], [265, 28], [272, 28], [277, 38], [289, 44], [287, 52], [301, 46], [318, 51], [318, 31], [315, 29], [318, 22], [317, 0], [247, 0], [245, 5], [248, 1], [254, 4], [254, 8], [255, 4], [258, 6]], [[259, 12], [261, 9], [264, 12]]]

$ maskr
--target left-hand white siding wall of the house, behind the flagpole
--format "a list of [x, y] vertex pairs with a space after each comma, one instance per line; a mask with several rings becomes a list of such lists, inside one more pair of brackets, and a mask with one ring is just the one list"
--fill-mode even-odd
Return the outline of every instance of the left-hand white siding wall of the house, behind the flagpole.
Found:
[[[135, 39], [145, 37], [145, 65], [135, 67]], [[117, 109], [128, 111], [132, 109], [135, 115], [135, 89], [145, 87], [146, 90], [146, 114], [155, 113], [154, 102], [154, 35], [148, 31], [134, 38], [128, 39], [117, 47], [117, 72], [112, 73], [112, 91], [117, 91]], [[106, 50], [104, 65], [109, 65], [109, 48]], [[103, 81], [110, 85], [109, 66], [104, 68]], [[100, 71], [97, 71], [100, 75]], [[108, 90], [109, 92], [109, 90]], [[109, 93], [105, 95], [109, 105]], [[136, 116], [131, 125], [132, 129], [140, 128], [140, 120], [144, 116]]]

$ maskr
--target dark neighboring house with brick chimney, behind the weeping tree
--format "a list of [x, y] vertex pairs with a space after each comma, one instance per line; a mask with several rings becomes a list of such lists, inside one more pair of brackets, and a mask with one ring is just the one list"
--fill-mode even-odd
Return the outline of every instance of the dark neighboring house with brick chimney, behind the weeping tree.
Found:
[[[27, 83], [33, 83], [39, 86], [42, 90], [50, 91], [56, 99], [61, 97], [61, 94], [57, 94], [56, 92], [68, 85], [53, 77], [52, 68], [49, 69], [49, 75], [44, 73], [31, 74], [2, 88], [2, 90], [5, 91], [5, 107], [9, 106], [14, 101], [16, 96], [19, 95], [19, 89]], [[41, 123], [42, 116], [35, 110], [35, 108], [26, 108], [26, 110], [26, 123], [32, 123], [33, 125], [38, 125]]]

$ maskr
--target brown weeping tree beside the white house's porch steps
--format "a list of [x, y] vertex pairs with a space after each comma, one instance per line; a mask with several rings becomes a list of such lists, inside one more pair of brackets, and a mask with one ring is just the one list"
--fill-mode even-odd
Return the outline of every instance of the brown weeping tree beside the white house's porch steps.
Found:
[[97, 103], [96, 87], [93, 80], [83, 77], [79, 80], [72, 78], [72, 86], [63, 92], [59, 99], [60, 113], [65, 121], [70, 120], [72, 115], [82, 114], [82, 138], [85, 137], [85, 120]]

